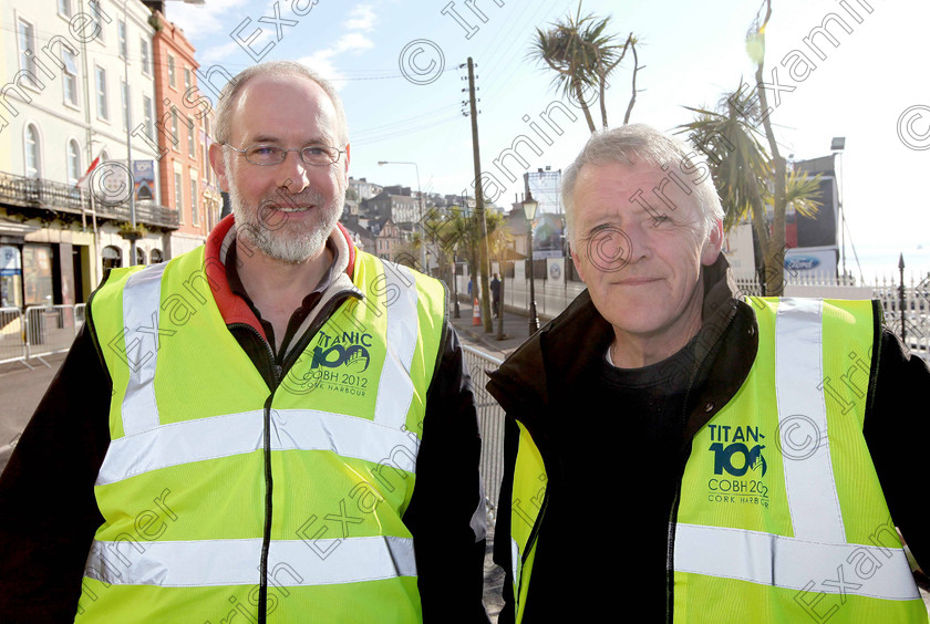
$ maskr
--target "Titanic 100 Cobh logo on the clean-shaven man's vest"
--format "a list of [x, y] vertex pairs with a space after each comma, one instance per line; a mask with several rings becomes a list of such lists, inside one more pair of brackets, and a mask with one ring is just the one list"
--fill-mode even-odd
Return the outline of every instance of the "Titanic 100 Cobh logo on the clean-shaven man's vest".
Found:
[[707, 425], [714, 454], [714, 476], [707, 480], [707, 500], [727, 505], [768, 507], [768, 470], [763, 451], [765, 435], [758, 427]]

